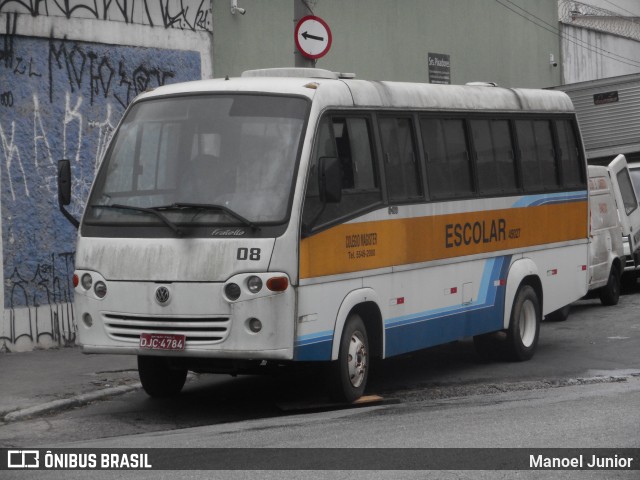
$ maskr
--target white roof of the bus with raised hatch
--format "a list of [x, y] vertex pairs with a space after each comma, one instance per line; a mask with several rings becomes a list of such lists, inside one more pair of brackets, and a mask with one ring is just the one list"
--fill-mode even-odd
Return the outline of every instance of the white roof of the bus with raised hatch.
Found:
[[239, 78], [200, 80], [158, 87], [139, 98], [190, 93], [244, 92], [302, 95], [324, 107], [425, 110], [573, 112], [567, 94], [502, 88], [492, 84], [436, 85], [369, 81], [322, 69], [264, 69]]

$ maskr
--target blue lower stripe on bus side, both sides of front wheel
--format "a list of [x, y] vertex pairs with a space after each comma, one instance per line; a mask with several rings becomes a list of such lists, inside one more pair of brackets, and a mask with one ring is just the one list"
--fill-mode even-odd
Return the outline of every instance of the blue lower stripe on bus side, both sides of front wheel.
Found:
[[[428, 310], [385, 321], [386, 356], [440, 345], [463, 337], [502, 329], [504, 285], [511, 256], [485, 262], [478, 298], [468, 305]], [[294, 358], [298, 361], [331, 360], [333, 331], [298, 337]]]

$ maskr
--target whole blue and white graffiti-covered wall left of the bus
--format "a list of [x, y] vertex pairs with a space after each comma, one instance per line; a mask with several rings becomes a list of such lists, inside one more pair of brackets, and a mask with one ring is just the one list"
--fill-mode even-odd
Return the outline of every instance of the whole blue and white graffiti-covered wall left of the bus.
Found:
[[124, 108], [141, 91], [211, 76], [202, 0], [0, 1], [0, 349], [75, 341], [75, 229], [57, 205], [72, 161], [79, 217]]

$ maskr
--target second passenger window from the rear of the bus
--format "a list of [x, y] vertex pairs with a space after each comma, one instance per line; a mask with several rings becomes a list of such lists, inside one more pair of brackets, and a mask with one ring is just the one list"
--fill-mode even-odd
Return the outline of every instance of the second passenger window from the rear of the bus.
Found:
[[556, 190], [556, 166], [551, 124], [547, 120], [517, 120], [523, 186], [527, 192]]

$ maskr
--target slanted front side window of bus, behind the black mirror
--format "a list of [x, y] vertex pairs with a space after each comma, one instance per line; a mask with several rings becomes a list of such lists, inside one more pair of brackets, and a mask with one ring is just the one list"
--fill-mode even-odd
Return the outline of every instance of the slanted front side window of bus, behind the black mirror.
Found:
[[[303, 211], [304, 225], [327, 226], [380, 203], [382, 196], [372, 153], [371, 127], [361, 117], [325, 117], [318, 129]], [[337, 157], [342, 166], [342, 200], [323, 205], [319, 197], [318, 159]], [[320, 213], [322, 212], [322, 213]], [[311, 225], [313, 224], [313, 225]]]

